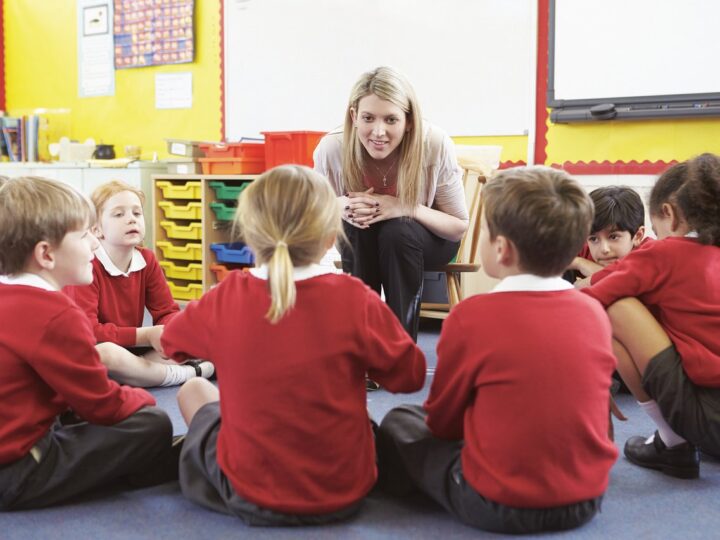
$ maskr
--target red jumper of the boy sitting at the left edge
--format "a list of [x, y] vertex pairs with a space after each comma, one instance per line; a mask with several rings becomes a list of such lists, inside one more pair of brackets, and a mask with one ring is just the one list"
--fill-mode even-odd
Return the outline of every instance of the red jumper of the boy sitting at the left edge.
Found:
[[26, 455], [72, 408], [100, 425], [155, 405], [108, 379], [87, 317], [61, 292], [0, 284], [0, 465]]

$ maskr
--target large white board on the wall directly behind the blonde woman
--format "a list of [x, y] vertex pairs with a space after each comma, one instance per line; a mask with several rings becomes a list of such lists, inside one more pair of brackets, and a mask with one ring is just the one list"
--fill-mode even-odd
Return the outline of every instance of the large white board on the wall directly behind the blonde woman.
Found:
[[533, 121], [533, 0], [223, 1], [228, 140], [331, 130], [381, 65], [450, 135], [519, 135]]

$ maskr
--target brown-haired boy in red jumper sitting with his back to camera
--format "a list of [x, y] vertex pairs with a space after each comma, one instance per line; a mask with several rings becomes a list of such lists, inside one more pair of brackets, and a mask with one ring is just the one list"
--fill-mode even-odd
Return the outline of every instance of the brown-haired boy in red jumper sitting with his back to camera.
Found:
[[383, 419], [381, 486], [419, 489], [480, 529], [572, 529], [600, 509], [617, 457], [610, 323], [561, 277], [592, 202], [564, 172], [528, 167], [488, 182], [482, 204], [482, 265], [502, 281], [443, 323], [424, 408]]

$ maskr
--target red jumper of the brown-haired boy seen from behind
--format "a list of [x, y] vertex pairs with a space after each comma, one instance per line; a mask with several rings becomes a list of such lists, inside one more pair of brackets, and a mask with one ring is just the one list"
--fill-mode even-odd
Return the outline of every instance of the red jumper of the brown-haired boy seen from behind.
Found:
[[615, 357], [597, 302], [574, 289], [474, 296], [445, 320], [437, 351], [426, 422], [464, 440], [476, 492], [516, 508], [605, 492], [617, 458], [607, 435]]

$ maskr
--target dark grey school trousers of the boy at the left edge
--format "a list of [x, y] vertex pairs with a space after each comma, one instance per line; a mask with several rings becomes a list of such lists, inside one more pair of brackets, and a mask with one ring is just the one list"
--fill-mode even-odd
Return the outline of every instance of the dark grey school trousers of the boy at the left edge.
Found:
[[169, 458], [172, 423], [145, 407], [112, 426], [60, 422], [31, 452], [0, 465], [0, 510], [51, 506], [116, 480], [153, 472]]

